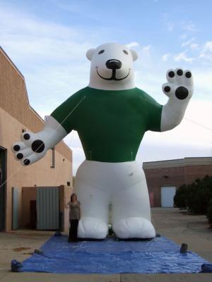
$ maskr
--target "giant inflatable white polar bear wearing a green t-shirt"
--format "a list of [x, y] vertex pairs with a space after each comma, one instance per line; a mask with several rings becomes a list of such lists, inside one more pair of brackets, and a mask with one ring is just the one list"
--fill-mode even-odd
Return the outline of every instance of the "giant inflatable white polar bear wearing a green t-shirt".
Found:
[[154, 238], [148, 188], [136, 153], [147, 130], [175, 128], [192, 97], [190, 71], [167, 71], [161, 106], [136, 88], [136, 51], [117, 43], [102, 44], [86, 54], [91, 61], [88, 87], [61, 104], [39, 133], [25, 132], [13, 145], [16, 159], [33, 164], [71, 130], [81, 139], [86, 161], [78, 168], [74, 191], [81, 202], [79, 238], [105, 238], [108, 204], [119, 238]]

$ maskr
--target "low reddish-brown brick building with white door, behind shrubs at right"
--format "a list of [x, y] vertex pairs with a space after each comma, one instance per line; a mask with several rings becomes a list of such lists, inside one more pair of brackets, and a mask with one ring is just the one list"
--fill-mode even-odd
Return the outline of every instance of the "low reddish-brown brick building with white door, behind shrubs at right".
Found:
[[152, 207], [172, 207], [177, 188], [197, 178], [212, 176], [212, 157], [143, 163]]

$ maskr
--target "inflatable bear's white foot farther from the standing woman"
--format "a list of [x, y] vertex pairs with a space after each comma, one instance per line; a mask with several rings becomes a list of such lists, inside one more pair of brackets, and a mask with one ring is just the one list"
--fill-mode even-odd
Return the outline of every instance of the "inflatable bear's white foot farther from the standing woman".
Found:
[[122, 219], [112, 226], [114, 233], [120, 239], [127, 238], [155, 238], [153, 224], [142, 217], [129, 217]]

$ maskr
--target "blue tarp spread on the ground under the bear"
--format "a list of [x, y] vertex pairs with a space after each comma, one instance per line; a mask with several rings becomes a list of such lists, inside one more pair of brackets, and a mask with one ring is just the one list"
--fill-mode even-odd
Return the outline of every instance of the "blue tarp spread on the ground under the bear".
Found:
[[194, 273], [208, 263], [194, 252], [180, 254], [180, 247], [165, 237], [150, 241], [81, 241], [53, 236], [23, 262], [23, 271], [61, 274]]

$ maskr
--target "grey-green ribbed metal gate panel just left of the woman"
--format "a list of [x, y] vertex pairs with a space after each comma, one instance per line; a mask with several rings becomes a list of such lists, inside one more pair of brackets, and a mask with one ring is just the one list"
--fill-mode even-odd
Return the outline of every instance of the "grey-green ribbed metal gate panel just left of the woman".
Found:
[[37, 188], [37, 229], [59, 229], [59, 188]]

